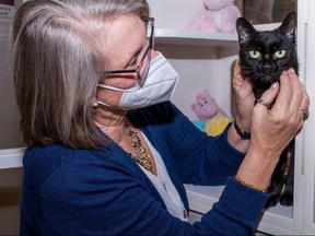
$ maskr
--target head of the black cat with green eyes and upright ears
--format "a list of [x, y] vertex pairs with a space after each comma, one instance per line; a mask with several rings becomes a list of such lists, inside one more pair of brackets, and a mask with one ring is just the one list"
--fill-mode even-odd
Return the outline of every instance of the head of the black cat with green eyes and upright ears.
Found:
[[289, 13], [275, 31], [258, 32], [246, 19], [237, 19], [242, 69], [253, 82], [256, 97], [278, 81], [283, 70], [293, 67], [298, 73], [295, 28], [295, 12]]

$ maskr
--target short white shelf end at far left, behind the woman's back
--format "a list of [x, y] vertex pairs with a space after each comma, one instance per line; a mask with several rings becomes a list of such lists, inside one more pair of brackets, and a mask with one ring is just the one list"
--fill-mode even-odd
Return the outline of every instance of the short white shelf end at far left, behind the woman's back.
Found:
[[25, 149], [0, 150], [0, 169], [22, 167]]

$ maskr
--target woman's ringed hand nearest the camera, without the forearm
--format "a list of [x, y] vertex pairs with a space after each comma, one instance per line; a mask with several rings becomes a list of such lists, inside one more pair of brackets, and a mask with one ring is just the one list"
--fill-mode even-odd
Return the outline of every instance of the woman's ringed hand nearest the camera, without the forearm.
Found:
[[279, 84], [272, 86], [261, 96], [269, 104], [277, 96], [272, 108], [257, 103], [253, 109], [250, 142], [255, 150], [262, 149], [265, 154], [270, 152], [272, 156], [280, 156], [302, 129], [304, 114], [300, 108], [308, 110], [310, 97], [293, 69], [281, 74], [278, 94], [275, 88]]

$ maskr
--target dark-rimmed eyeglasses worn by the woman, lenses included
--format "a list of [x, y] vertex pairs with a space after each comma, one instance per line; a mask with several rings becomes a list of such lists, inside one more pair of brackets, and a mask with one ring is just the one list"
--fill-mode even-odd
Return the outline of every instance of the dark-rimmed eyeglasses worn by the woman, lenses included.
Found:
[[104, 75], [119, 74], [119, 73], [136, 73], [138, 76], [138, 83], [143, 86], [145, 78], [150, 68], [151, 62], [151, 49], [154, 48], [154, 19], [153, 17], [142, 17], [147, 23], [147, 38], [149, 40], [149, 46], [145, 49], [142, 59], [136, 69], [130, 70], [109, 70], [103, 71]]

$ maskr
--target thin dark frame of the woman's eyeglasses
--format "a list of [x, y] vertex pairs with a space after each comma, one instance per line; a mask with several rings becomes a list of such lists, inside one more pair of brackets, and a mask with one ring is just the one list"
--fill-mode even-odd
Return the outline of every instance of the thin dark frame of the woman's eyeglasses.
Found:
[[[148, 63], [150, 64], [151, 62], [151, 49], [154, 48], [154, 17], [141, 17], [141, 20], [143, 20], [147, 24], [151, 24], [151, 35], [149, 37], [149, 46], [148, 48], [145, 49], [144, 54], [143, 54], [143, 57], [142, 59], [140, 60], [139, 64], [136, 67], [136, 69], [126, 69], [126, 70], [108, 70], [108, 71], [101, 71], [101, 73], [103, 73], [104, 75], [110, 75], [110, 74], [119, 74], [119, 73], [137, 73], [137, 76], [138, 76], [138, 83], [140, 84], [140, 86], [143, 85], [144, 83], [144, 79], [148, 74], [148, 71], [149, 71], [149, 66], [148, 66], [148, 69], [144, 73], [144, 78], [141, 78], [141, 74], [140, 74], [140, 71], [141, 71], [141, 68], [144, 63], [144, 60], [145, 58], [148, 57], [148, 54], [149, 54], [149, 61]], [[141, 81], [143, 81], [141, 83]]]

